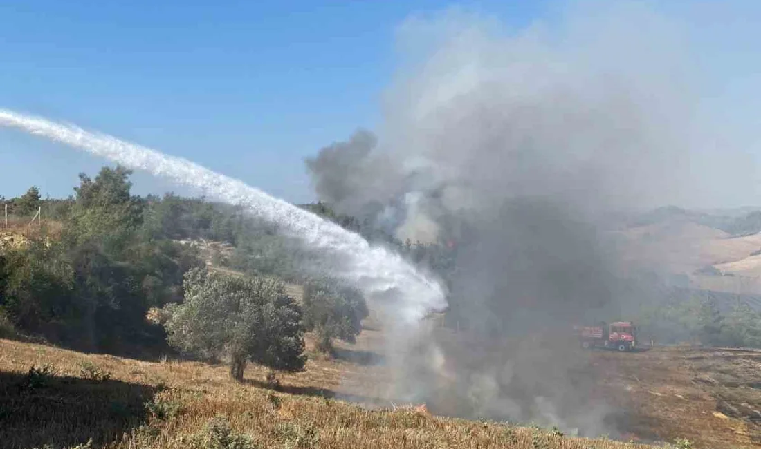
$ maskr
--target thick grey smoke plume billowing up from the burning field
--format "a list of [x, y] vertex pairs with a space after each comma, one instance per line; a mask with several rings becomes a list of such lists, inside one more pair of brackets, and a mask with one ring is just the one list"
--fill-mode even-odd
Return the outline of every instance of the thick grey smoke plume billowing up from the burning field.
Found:
[[695, 194], [699, 123], [673, 27], [596, 6], [569, 8], [552, 33], [461, 11], [409, 21], [378, 138], [359, 131], [308, 161], [343, 212], [457, 244], [447, 319], [463, 332], [421, 341], [396, 394], [457, 416], [611, 430], [567, 329], [626, 318], [604, 232], [621, 211]]

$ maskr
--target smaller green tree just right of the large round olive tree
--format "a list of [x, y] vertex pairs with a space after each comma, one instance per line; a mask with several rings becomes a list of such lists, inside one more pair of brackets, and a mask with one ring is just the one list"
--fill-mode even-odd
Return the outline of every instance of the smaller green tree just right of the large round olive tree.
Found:
[[317, 335], [317, 349], [330, 353], [333, 340], [355, 343], [368, 308], [361, 293], [335, 283], [311, 281], [304, 286], [304, 328]]

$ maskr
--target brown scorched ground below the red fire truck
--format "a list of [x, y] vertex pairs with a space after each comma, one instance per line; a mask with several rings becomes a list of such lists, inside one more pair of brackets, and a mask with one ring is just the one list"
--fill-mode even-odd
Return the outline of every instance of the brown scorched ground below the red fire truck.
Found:
[[761, 446], [761, 352], [653, 348], [596, 351], [600, 388], [634, 435], [699, 447]]

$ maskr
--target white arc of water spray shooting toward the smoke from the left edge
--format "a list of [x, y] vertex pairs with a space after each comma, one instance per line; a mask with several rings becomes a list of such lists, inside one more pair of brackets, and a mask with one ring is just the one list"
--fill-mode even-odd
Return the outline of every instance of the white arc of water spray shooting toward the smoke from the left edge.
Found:
[[243, 206], [248, 213], [276, 223], [284, 234], [301, 239], [310, 248], [328, 251], [341, 258], [342, 267], [339, 273], [333, 274], [357, 286], [368, 300], [383, 302], [380, 307], [393, 311], [403, 323], [413, 324], [431, 311], [446, 306], [441, 283], [416, 270], [400, 255], [381, 246], [372, 246], [361, 236], [335, 223], [237, 179], [107, 134], [88, 132], [75, 125], [63, 125], [6, 109], [0, 109], [0, 126], [17, 128], [85, 150], [131, 169], [145, 170], [199, 188], [209, 197], [228, 204]]

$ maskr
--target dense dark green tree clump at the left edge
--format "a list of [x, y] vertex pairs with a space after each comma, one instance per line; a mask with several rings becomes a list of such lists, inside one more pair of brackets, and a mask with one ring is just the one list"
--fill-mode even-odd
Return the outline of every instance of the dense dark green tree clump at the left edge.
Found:
[[[163, 330], [145, 321], [145, 312], [181, 301], [183, 274], [203, 262], [193, 248], [154, 238], [148, 203], [130, 193], [129, 174], [116, 167], [95, 179], [80, 175], [75, 195], [53, 210], [59, 236], [3, 248], [0, 314], [7, 325], [88, 351], [165, 349]], [[13, 204], [16, 213], [43, 205], [37, 188]]]

